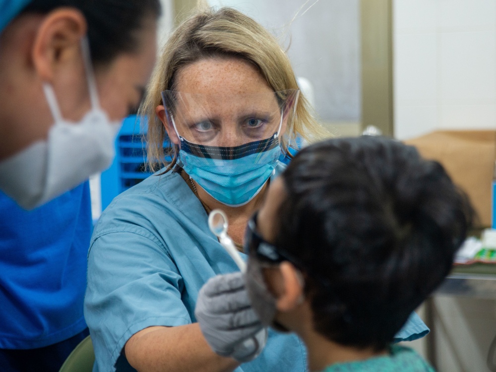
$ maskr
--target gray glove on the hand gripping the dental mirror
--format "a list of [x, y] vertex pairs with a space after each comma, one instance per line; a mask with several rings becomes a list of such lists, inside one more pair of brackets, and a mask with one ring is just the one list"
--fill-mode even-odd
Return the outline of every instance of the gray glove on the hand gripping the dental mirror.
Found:
[[212, 350], [248, 362], [267, 341], [267, 329], [251, 309], [243, 273], [217, 275], [201, 288], [194, 315]]

